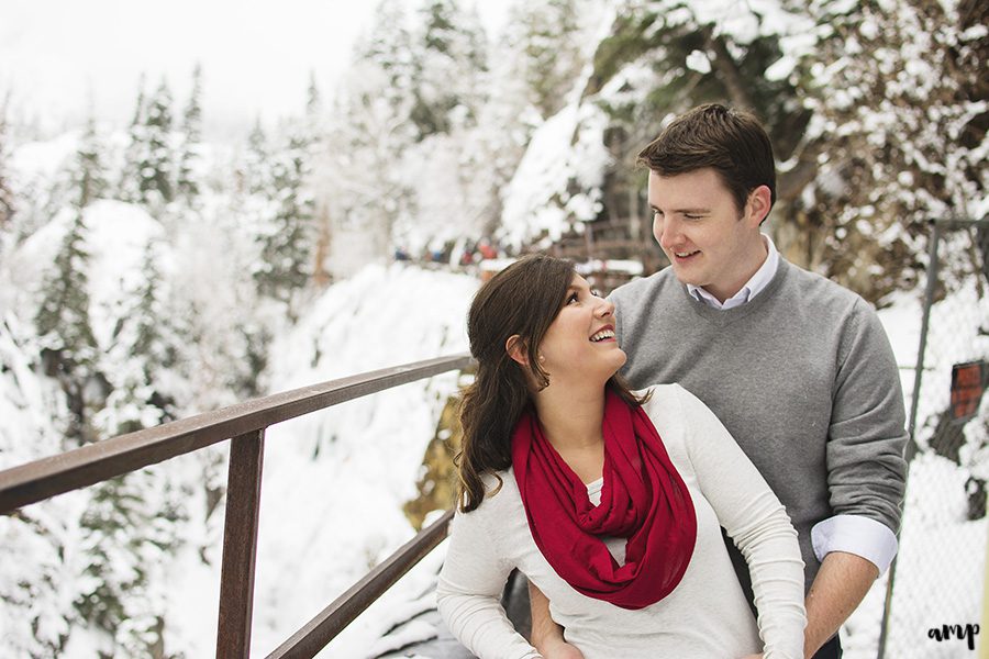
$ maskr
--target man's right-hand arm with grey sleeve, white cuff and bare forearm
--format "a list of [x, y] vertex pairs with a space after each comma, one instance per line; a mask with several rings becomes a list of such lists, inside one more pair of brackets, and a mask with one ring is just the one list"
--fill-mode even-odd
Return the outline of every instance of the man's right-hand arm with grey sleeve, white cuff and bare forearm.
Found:
[[826, 448], [835, 517], [811, 534], [821, 568], [804, 602], [807, 657], [837, 633], [896, 555], [905, 490], [905, 413], [889, 339], [862, 300], [842, 332]]

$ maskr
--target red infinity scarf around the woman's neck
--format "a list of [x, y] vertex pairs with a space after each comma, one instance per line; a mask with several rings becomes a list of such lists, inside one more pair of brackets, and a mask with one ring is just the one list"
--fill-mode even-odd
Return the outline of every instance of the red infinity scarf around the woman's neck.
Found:
[[[604, 401], [604, 484], [587, 485], [553, 448], [534, 413], [519, 420], [512, 467], [529, 528], [546, 560], [578, 592], [643, 608], [673, 592], [693, 555], [697, 516], [687, 485], [645, 411], [609, 390]], [[619, 566], [600, 536], [624, 537]]]

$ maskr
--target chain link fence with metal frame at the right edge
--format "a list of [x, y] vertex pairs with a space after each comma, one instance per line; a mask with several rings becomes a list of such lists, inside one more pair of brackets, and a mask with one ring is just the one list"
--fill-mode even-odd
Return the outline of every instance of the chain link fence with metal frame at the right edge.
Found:
[[916, 367], [904, 378], [910, 471], [879, 659], [989, 651], [989, 629], [978, 627], [989, 536], [989, 396], [979, 399], [989, 380], [989, 220], [932, 222], [929, 257]]

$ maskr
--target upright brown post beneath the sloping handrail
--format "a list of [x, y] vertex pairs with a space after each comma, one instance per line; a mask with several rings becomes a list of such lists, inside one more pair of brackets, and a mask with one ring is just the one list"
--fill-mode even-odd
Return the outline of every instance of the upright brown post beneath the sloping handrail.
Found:
[[257, 558], [264, 454], [264, 428], [231, 439], [226, 518], [223, 525], [223, 566], [220, 572], [218, 659], [247, 659], [251, 652], [254, 563]]

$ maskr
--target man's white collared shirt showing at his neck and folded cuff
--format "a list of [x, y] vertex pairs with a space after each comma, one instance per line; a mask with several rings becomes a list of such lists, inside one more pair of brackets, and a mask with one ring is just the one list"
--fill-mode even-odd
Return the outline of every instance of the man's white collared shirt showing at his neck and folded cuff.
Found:
[[[704, 289], [688, 283], [687, 291], [690, 295], [698, 302], [722, 311], [742, 306], [758, 295], [776, 276], [779, 267], [776, 245], [766, 234], [762, 234], [762, 237], [768, 252], [766, 260], [737, 293], [722, 303]], [[818, 522], [811, 528], [811, 545], [818, 560], [824, 560], [832, 551], [845, 551], [875, 565], [879, 568], [879, 574], [889, 568], [899, 548], [897, 536], [889, 527], [863, 515], [834, 515]]]

